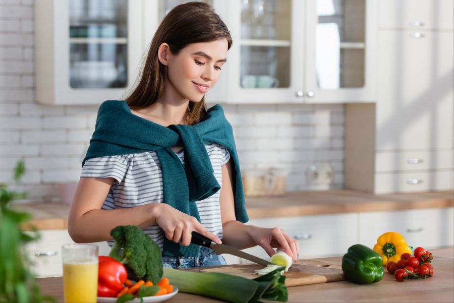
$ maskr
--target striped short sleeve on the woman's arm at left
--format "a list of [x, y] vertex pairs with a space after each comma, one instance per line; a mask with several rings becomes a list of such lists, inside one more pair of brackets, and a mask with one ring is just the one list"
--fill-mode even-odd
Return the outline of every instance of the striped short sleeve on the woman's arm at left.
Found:
[[116, 180], [113, 184], [119, 185], [124, 180], [128, 167], [127, 155], [91, 158], [85, 161], [81, 177], [112, 177]]

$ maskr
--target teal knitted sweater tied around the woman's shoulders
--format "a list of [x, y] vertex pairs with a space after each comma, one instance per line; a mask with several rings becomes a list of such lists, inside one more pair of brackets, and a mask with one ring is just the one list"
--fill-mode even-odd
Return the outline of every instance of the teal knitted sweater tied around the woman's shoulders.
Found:
[[[104, 101], [96, 119], [95, 131], [87, 154], [90, 158], [155, 151], [162, 170], [163, 201], [189, 214], [200, 222], [196, 201], [216, 193], [220, 186], [206, 151], [205, 144], [224, 146], [233, 159], [235, 215], [240, 222], [249, 220], [245, 208], [240, 163], [232, 126], [219, 104], [207, 110], [199, 123], [163, 127], [131, 112], [120, 100]], [[185, 165], [171, 149], [183, 146]], [[197, 257], [200, 247], [182, 246], [164, 237], [163, 255]]]

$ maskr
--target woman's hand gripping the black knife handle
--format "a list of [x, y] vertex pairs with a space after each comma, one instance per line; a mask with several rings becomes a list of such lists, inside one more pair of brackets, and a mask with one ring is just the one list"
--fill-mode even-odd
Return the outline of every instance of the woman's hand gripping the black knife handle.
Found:
[[167, 239], [188, 246], [191, 244], [191, 232], [197, 231], [217, 244], [222, 243], [216, 235], [206, 230], [195, 217], [165, 203], [157, 203], [155, 209], [156, 223], [162, 228]]

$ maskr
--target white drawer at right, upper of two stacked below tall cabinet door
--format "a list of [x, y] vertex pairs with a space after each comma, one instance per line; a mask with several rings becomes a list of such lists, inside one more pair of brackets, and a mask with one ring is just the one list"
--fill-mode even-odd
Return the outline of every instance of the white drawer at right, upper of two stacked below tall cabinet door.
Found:
[[452, 150], [377, 152], [375, 171], [428, 170], [454, 168]]

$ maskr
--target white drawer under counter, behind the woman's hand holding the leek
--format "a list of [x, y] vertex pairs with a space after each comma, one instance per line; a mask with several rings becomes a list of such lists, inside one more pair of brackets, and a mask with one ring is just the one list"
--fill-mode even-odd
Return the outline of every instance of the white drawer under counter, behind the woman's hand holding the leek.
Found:
[[[279, 227], [289, 236], [299, 239], [300, 258], [343, 255], [358, 240], [356, 213], [253, 219], [248, 224]], [[270, 259], [259, 246], [244, 251], [266, 260]], [[249, 262], [244, 259], [241, 261]]]

